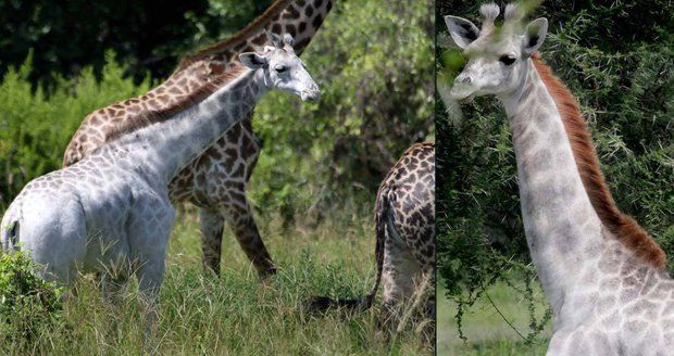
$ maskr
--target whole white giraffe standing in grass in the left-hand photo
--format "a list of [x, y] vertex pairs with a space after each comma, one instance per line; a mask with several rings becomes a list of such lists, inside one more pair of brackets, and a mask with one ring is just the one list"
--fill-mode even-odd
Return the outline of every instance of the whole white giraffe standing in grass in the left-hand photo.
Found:
[[248, 68], [223, 79], [226, 85], [209, 87], [204, 99], [148, 119], [72, 166], [28, 182], [2, 218], [2, 250], [26, 250], [45, 266], [45, 279], [66, 285], [78, 271], [101, 274], [108, 295], [134, 274], [153, 323], [175, 219], [168, 182], [246, 117], [267, 90], [320, 98], [292, 51], [292, 38], [271, 37], [274, 47], [241, 53]]

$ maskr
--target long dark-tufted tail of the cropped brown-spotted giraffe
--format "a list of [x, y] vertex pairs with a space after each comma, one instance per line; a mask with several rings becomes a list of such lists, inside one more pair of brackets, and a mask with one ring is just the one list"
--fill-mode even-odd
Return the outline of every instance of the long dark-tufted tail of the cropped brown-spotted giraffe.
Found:
[[364, 312], [372, 307], [374, 297], [382, 282], [382, 272], [384, 270], [384, 244], [388, 238], [398, 237], [395, 228], [395, 215], [390, 209], [389, 201], [390, 190], [386, 186], [382, 186], [377, 193], [375, 204], [375, 230], [376, 245], [375, 258], [377, 262], [377, 277], [370, 293], [358, 298], [330, 298], [327, 296], [315, 296], [311, 302], [311, 309], [315, 312], [325, 312], [329, 308], [342, 308], [353, 312]]

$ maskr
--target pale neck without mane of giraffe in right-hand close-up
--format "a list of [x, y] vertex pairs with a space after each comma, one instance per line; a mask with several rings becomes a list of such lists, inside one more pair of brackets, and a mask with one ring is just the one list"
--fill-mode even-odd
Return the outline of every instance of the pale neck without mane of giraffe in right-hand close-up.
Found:
[[559, 315], [606, 233], [577, 169], [560, 112], [532, 60], [506, 106], [517, 162], [524, 231], [544, 291]]

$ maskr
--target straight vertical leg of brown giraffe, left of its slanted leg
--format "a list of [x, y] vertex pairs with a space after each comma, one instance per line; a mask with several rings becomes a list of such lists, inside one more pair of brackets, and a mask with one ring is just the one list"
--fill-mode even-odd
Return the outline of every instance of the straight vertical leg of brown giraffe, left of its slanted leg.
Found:
[[220, 258], [222, 254], [223, 230], [225, 220], [219, 212], [200, 208], [201, 253], [204, 270], [212, 270], [220, 276]]

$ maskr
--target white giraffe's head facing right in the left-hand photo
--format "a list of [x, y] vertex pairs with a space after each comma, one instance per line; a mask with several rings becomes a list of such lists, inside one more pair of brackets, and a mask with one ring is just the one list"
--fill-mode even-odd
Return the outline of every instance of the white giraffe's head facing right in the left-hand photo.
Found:
[[269, 89], [289, 92], [304, 101], [319, 100], [321, 90], [295, 53], [292, 37], [286, 34], [282, 38], [269, 33], [267, 36], [274, 46], [266, 46], [261, 53], [239, 54], [241, 63], [253, 71], [262, 71], [263, 85]]

